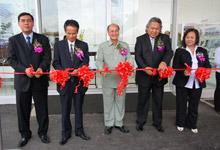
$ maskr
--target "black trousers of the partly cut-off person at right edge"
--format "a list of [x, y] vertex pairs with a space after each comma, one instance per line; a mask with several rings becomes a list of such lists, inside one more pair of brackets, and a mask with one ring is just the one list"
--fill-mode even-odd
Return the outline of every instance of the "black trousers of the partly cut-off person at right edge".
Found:
[[215, 88], [215, 94], [214, 94], [214, 105], [215, 110], [220, 112], [220, 73], [215, 73], [216, 78], [216, 88]]

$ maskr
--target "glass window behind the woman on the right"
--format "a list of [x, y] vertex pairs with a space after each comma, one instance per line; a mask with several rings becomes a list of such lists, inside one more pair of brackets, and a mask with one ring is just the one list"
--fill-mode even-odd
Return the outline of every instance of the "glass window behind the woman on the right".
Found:
[[[214, 64], [215, 49], [220, 46], [220, 6], [219, 0], [184, 0], [179, 1], [178, 14], [178, 35], [179, 43], [185, 29], [193, 27], [200, 33], [199, 45], [206, 48], [212, 67]], [[207, 80], [207, 88], [210, 96], [213, 96], [215, 88], [215, 72], [212, 71], [210, 78]]]

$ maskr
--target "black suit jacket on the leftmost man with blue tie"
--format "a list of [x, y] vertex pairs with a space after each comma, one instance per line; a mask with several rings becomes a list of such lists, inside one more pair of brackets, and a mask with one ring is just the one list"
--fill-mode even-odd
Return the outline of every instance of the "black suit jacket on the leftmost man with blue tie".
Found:
[[[28, 48], [22, 33], [9, 38], [8, 62], [15, 72], [25, 72], [30, 64], [33, 65], [34, 71], [38, 68], [42, 68], [44, 72], [49, 71], [51, 63], [49, 40], [46, 36], [33, 32], [33, 41], [35, 40], [42, 44], [43, 51], [41, 53], [35, 52], [33, 46], [31, 49]], [[49, 85], [48, 75], [42, 75], [40, 78], [29, 78], [26, 74], [15, 74], [14, 88], [16, 90], [26, 92], [30, 85], [37, 90], [47, 88]]]

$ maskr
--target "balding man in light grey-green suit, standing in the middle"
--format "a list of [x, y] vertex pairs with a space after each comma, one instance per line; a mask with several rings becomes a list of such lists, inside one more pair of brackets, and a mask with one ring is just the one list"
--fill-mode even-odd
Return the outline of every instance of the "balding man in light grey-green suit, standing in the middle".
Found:
[[[120, 62], [123, 63], [124, 61], [128, 61], [133, 65], [134, 60], [130, 54], [128, 44], [118, 40], [119, 26], [117, 24], [110, 24], [107, 30], [110, 40], [99, 45], [96, 61], [98, 70], [102, 70], [104, 64], [109, 69], [115, 69]], [[105, 134], [110, 134], [114, 126], [121, 132], [128, 133], [129, 130], [123, 126], [126, 89], [123, 91], [122, 96], [118, 96], [116, 89], [120, 78], [116, 75], [116, 72], [112, 74], [103, 72], [101, 75]]]

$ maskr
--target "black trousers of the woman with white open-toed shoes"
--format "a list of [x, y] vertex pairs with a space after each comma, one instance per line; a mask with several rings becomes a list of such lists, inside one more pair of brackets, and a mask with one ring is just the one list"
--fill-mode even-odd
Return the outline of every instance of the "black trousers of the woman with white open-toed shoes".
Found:
[[[189, 89], [176, 86], [176, 125], [196, 129], [198, 106], [202, 88]], [[187, 109], [187, 101], [188, 109]], [[188, 110], [188, 111], [187, 111]]]

